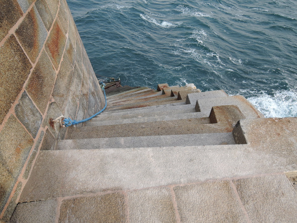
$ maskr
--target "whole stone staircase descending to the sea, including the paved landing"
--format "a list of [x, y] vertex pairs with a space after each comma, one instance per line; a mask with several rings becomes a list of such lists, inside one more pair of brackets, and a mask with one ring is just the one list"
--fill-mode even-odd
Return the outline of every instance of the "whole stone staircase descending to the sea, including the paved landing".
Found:
[[11, 222], [297, 222], [297, 118], [142, 87], [40, 151]]

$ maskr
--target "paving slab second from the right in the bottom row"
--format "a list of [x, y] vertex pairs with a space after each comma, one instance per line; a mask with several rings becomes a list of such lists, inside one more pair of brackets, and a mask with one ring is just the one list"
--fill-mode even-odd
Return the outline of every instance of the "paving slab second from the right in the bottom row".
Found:
[[181, 222], [248, 222], [229, 181], [173, 188]]

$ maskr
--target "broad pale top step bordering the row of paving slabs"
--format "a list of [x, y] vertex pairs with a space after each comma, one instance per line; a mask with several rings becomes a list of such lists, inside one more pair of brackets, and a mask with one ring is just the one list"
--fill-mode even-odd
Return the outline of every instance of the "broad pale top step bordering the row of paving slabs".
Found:
[[296, 170], [295, 151], [279, 152], [248, 144], [40, 151], [19, 202]]

